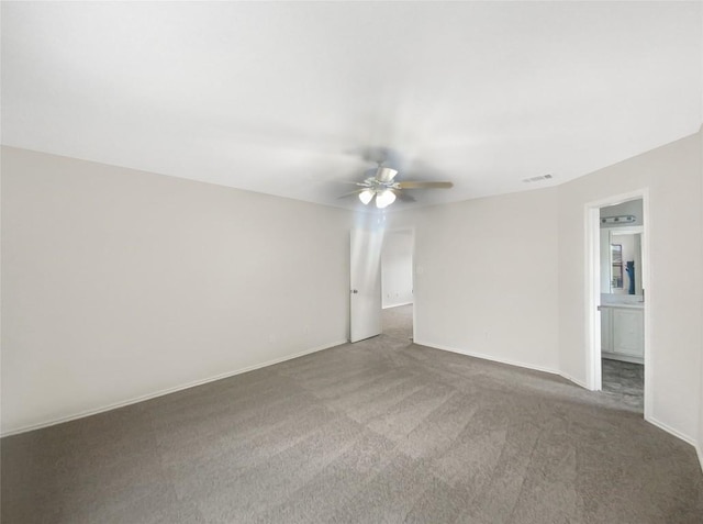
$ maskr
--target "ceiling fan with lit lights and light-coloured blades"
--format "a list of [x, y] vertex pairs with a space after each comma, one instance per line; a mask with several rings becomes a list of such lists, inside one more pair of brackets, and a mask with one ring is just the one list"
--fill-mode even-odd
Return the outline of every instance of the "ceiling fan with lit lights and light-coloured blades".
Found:
[[454, 186], [453, 182], [433, 182], [433, 181], [395, 181], [398, 170], [383, 166], [380, 161], [373, 170], [367, 171], [368, 176], [362, 182], [354, 182], [360, 187], [356, 191], [343, 194], [339, 198], [358, 196], [364, 205], [368, 205], [376, 198], [376, 207], [379, 209], [388, 208], [395, 199], [414, 202], [415, 199], [411, 194], [403, 193], [405, 189], [448, 189]]

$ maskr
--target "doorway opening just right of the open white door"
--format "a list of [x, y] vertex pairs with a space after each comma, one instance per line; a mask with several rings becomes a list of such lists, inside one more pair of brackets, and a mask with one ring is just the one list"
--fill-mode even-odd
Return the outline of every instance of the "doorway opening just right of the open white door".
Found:
[[414, 231], [388, 231], [381, 250], [381, 333], [398, 342], [413, 339]]

